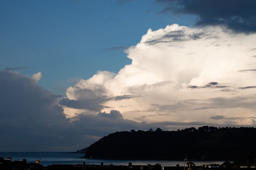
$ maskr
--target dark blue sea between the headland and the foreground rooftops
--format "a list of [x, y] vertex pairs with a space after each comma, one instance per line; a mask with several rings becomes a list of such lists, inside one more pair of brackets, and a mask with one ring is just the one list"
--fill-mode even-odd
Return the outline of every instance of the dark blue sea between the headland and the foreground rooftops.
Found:
[[[108, 159], [87, 159], [82, 158], [84, 154], [70, 154], [68, 152], [0, 152], [0, 157], [6, 160], [8, 157], [12, 158], [12, 161], [19, 160], [22, 161], [26, 159], [27, 163], [36, 163], [36, 160], [40, 160], [40, 164], [43, 166], [48, 166], [52, 164], [86, 164], [86, 165], [100, 165], [103, 162], [104, 165], [128, 165], [132, 162], [133, 165], [154, 165], [161, 164], [164, 166], [184, 166], [186, 162], [194, 162], [196, 166], [200, 165], [210, 165], [210, 164], [223, 164], [225, 161], [233, 163], [230, 160], [219, 160], [219, 161], [204, 161], [204, 160], [108, 160]], [[185, 156], [186, 157], [186, 156]], [[185, 166], [187, 166], [185, 164]]]

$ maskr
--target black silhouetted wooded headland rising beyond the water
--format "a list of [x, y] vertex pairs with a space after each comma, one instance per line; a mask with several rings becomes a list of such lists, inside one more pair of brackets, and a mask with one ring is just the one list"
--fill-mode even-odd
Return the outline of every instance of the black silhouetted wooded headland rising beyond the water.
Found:
[[194, 127], [181, 131], [112, 133], [92, 144], [86, 158], [236, 160], [256, 158], [256, 128]]

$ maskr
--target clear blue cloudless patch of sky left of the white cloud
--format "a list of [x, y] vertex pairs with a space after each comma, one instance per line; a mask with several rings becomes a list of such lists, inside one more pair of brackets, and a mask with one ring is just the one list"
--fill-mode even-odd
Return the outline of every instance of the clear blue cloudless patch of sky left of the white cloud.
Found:
[[98, 70], [118, 72], [131, 61], [124, 50], [148, 28], [190, 26], [192, 17], [158, 14], [154, 0], [1, 2], [0, 69], [42, 72], [39, 85], [65, 95], [66, 88]]

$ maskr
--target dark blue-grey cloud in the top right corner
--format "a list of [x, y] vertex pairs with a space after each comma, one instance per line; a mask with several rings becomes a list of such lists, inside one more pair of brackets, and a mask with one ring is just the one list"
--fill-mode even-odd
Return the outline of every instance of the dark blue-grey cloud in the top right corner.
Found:
[[236, 32], [256, 32], [255, 0], [156, 0], [160, 13], [198, 16], [196, 26], [224, 25]]

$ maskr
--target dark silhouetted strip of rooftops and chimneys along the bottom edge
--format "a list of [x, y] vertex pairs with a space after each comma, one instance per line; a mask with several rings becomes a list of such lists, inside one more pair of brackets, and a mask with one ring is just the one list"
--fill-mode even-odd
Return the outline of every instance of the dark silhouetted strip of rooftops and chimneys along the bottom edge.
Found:
[[242, 166], [238, 162], [230, 163], [224, 162], [223, 164], [210, 164], [210, 165], [195, 165], [193, 162], [186, 162], [186, 166], [164, 166], [160, 164], [147, 164], [147, 165], [132, 165], [129, 162], [128, 165], [114, 166], [104, 165], [88, 165], [88, 164], [52, 164], [48, 166], [40, 165], [37, 163], [26, 163], [26, 161], [1, 161], [0, 170], [255, 170], [255, 166], [244, 165]]

